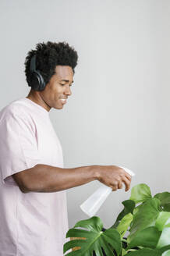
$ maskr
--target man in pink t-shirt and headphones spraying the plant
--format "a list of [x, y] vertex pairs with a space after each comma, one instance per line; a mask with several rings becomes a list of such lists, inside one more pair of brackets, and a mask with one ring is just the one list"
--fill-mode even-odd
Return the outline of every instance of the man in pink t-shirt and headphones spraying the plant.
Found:
[[77, 58], [64, 42], [37, 44], [25, 62], [30, 93], [0, 112], [1, 256], [63, 255], [67, 189], [99, 180], [129, 190], [131, 176], [118, 166], [63, 168], [49, 111], [66, 105]]

